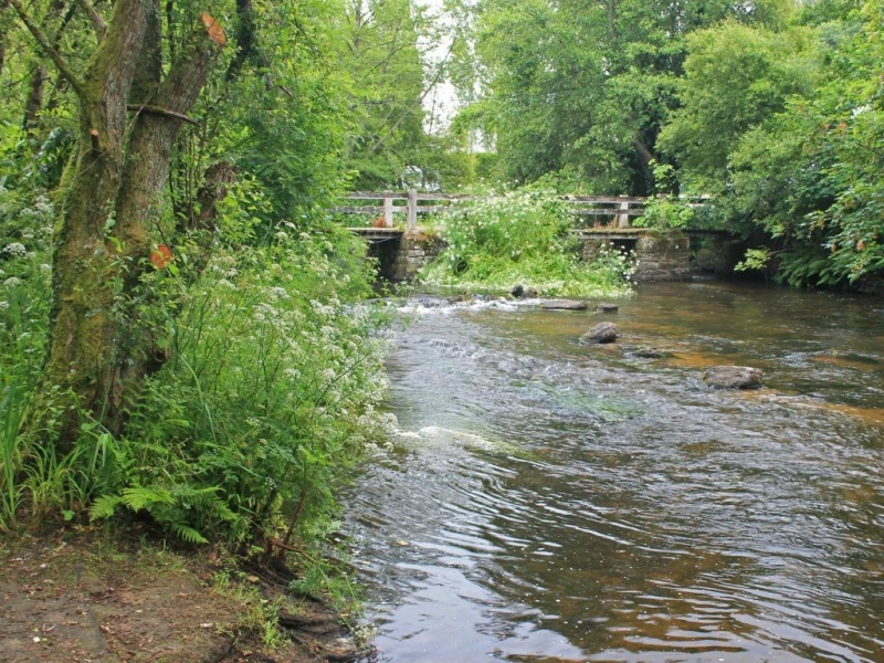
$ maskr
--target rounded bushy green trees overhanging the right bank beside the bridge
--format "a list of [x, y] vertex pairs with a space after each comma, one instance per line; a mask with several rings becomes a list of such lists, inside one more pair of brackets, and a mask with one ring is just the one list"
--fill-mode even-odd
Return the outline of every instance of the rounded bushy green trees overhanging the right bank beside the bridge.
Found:
[[[681, 108], [660, 146], [682, 181], [793, 285], [874, 287], [884, 273], [878, 3], [821, 1], [777, 31], [690, 40]], [[756, 266], [761, 266], [758, 260]]]

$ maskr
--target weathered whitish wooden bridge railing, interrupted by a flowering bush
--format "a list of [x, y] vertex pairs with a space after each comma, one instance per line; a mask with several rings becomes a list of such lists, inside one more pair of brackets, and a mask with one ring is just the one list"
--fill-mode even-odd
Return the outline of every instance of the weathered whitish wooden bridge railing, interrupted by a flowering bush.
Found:
[[[406, 215], [406, 228], [418, 225], [419, 214], [430, 214], [450, 210], [460, 202], [480, 200], [481, 196], [455, 193], [424, 193], [414, 189], [408, 191], [354, 191], [347, 194], [348, 201], [365, 204], [345, 204], [332, 209], [340, 214], [366, 214], [376, 228], [393, 228], [394, 214]], [[644, 214], [648, 198], [629, 196], [562, 196], [569, 213], [576, 217], [596, 219], [593, 225], [614, 225], [629, 228], [631, 219]]]

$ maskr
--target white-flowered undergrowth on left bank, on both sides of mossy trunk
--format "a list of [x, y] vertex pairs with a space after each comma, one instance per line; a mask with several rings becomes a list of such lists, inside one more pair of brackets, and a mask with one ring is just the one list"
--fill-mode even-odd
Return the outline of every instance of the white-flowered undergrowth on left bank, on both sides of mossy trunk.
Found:
[[291, 227], [270, 245], [220, 246], [194, 283], [151, 272], [144, 290], [176, 304], [147, 297], [143, 311], [169, 360], [124, 436], [87, 423], [57, 456], [21, 434], [48, 334], [53, 211], [18, 202], [0, 208], [12, 240], [0, 246], [0, 527], [88, 508], [148, 514], [190, 543], [273, 549], [326, 532], [337, 486], [389, 428], [377, 404], [392, 313], [359, 304], [373, 274], [358, 238]]

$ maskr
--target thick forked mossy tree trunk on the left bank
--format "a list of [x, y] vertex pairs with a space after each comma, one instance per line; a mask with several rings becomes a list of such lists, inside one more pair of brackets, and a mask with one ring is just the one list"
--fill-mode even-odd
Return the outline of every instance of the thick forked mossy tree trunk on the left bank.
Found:
[[75, 91], [80, 126], [56, 224], [46, 392], [60, 404], [57, 445], [84, 418], [119, 433], [145, 377], [161, 365], [136, 292], [149, 263], [171, 149], [224, 43], [208, 14], [162, 75], [158, 0], [117, 0], [82, 73], [23, 10], [21, 20]]

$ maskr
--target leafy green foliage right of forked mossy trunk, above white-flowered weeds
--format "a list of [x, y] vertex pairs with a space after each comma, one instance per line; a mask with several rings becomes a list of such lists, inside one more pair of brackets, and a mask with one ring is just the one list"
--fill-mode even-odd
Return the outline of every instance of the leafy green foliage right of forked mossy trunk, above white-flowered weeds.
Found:
[[280, 219], [307, 227], [330, 204], [345, 181], [349, 123], [346, 80], [332, 49], [319, 46], [339, 39], [332, 7], [286, 1], [256, 4], [255, 11], [260, 75], [240, 76], [233, 86], [224, 82], [229, 103], [206, 112], [220, 120], [213, 155], [254, 177], [270, 202], [259, 214], [259, 235], [265, 236]]

